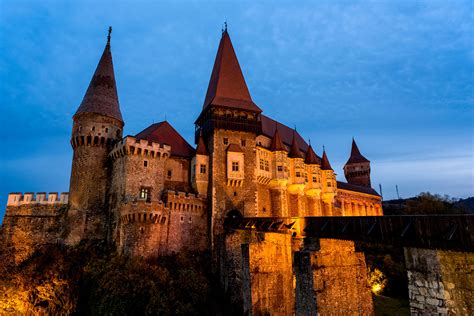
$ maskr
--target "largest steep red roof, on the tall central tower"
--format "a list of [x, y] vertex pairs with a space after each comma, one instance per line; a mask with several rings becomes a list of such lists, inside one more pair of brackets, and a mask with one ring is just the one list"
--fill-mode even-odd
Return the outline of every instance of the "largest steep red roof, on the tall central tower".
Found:
[[222, 33], [203, 110], [210, 105], [262, 112], [252, 101], [227, 30]]

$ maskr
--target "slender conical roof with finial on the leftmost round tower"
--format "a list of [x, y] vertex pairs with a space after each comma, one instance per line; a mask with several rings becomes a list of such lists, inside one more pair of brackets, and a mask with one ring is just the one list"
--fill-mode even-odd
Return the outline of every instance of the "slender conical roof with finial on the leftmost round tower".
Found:
[[81, 105], [74, 116], [81, 113], [97, 113], [113, 117], [123, 122], [115, 84], [112, 53], [110, 51], [111, 33], [112, 27], [109, 27], [104, 52], [92, 76], [86, 94], [82, 99]]

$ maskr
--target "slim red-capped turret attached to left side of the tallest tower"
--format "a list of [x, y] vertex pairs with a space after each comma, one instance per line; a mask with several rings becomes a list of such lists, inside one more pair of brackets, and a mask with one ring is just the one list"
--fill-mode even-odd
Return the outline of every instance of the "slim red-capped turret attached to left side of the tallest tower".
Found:
[[194, 190], [200, 196], [207, 196], [209, 184], [209, 153], [202, 135], [199, 135], [196, 156], [191, 161], [191, 179]]

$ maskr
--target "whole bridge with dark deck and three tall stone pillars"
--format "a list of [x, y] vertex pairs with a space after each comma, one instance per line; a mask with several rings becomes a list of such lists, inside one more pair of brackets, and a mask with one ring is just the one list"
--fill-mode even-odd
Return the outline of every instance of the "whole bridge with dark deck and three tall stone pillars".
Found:
[[370, 315], [355, 242], [403, 247], [410, 311], [474, 312], [474, 216], [227, 218], [221, 283], [247, 314]]

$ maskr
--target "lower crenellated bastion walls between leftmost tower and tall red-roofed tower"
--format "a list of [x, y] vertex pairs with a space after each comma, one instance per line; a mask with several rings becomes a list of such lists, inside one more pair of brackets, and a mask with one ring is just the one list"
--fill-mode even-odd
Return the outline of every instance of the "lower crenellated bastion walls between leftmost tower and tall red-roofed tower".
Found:
[[192, 194], [167, 191], [164, 201], [135, 201], [119, 207], [116, 241], [123, 253], [156, 257], [205, 250], [206, 201]]

